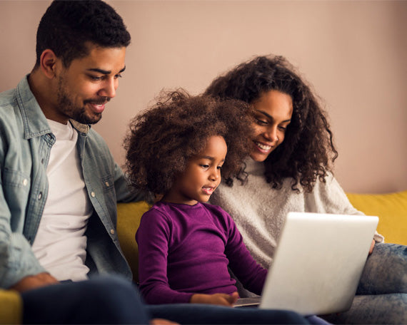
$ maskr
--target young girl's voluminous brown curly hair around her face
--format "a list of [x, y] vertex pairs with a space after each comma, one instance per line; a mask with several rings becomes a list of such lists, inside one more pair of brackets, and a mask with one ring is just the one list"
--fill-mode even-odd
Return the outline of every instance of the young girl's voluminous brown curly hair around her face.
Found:
[[182, 89], [162, 92], [154, 106], [131, 120], [124, 140], [131, 185], [166, 194], [187, 162], [204, 150], [213, 135], [222, 136], [228, 147], [222, 176], [226, 182], [232, 177], [243, 182], [252, 119], [253, 108], [241, 100], [190, 96]]

